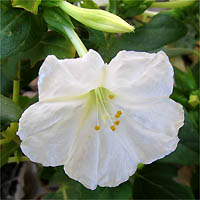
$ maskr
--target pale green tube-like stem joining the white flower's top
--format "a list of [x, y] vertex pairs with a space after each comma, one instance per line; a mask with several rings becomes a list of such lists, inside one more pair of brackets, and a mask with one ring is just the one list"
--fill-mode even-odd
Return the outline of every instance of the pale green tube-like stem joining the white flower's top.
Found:
[[77, 35], [77, 33], [74, 31], [72, 27], [65, 26], [64, 29], [70, 41], [74, 45], [74, 48], [76, 49], [78, 55], [80, 57], [83, 57], [88, 51], [83, 42], [81, 41], [81, 39], [79, 38], [79, 36]]

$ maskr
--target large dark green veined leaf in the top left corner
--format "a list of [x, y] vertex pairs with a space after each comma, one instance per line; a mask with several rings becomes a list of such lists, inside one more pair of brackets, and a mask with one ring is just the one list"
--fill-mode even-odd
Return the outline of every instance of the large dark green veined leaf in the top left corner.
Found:
[[40, 16], [13, 8], [8, 1], [1, 2], [0, 11], [0, 59], [30, 49], [40, 41], [46, 30]]

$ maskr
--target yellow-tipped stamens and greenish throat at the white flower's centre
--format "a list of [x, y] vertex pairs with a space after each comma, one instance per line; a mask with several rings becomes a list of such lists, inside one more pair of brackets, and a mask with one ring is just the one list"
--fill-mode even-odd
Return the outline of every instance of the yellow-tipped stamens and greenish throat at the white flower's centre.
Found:
[[110, 125], [112, 131], [116, 130], [116, 126], [120, 124], [119, 118], [122, 115], [122, 111], [118, 110], [111, 113], [110, 106], [112, 105], [112, 100], [114, 100], [115, 95], [103, 87], [98, 87], [93, 90], [95, 95], [95, 104], [97, 108], [96, 125], [94, 129], [96, 131], [101, 130], [101, 125], [105, 127]]

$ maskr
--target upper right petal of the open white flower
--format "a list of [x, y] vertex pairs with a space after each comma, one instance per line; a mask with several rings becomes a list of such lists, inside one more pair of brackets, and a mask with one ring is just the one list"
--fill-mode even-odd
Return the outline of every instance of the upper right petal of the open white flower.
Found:
[[121, 51], [108, 65], [105, 87], [122, 96], [134, 94], [134, 101], [168, 97], [173, 89], [173, 68], [162, 51]]

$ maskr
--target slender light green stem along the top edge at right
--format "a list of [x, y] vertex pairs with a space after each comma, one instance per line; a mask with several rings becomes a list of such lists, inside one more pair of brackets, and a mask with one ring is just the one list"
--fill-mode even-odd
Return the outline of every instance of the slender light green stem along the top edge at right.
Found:
[[192, 5], [196, 0], [176, 0], [170, 2], [153, 2], [151, 8], [182, 8]]

